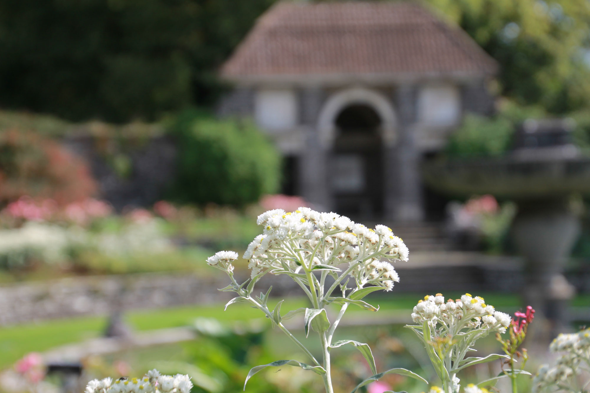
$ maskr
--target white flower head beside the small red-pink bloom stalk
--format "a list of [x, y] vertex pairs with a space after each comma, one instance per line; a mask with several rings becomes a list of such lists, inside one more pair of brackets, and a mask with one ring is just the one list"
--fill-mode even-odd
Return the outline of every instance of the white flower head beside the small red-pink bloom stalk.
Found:
[[461, 299], [448, 299], [447, 302], [441, 293], [424, 296], [424, 300], [414, 307], [412, 320], [420, 325], [428, 321], [433, 328], [440, 325], [440, 329], [433, 332], [436, 336], [444, 336], [448, 332], [454, 335], [465, 328], [505, 333], [512, 321], [506, 313], [486, 304], [483, 297], [472, 297], [469, 293]]

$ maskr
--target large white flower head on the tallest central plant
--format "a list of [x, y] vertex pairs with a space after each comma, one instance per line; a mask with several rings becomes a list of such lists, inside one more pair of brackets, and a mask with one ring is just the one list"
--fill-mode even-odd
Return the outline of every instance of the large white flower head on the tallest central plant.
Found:
[[257, 224], [264, 227], [263, 234], [254, 238], [243, 257], [252, 277], [266, 271], [299, 273], [303, 264], [313, 268], [348, 263], [358, 286], [370, 283], [391, 290], [399, 277], [381, 260], [408, 260], [408, 248], [391, 229], [377, 225], [373, 230], [333, 212], [274, 209], [258, 216]]

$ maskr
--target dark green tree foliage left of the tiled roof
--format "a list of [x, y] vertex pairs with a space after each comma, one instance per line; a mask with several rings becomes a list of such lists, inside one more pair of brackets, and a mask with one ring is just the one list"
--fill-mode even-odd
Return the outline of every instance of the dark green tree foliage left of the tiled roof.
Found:
[[210, 104], [217, 68], [272, 3], [2, 2], [0, 105], [125, 122]]

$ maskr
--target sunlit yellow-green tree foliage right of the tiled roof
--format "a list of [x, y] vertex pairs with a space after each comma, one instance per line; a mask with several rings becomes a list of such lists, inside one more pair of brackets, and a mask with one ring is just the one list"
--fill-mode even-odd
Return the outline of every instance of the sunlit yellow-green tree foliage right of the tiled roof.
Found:
[[500, 94], [550, 113], [588, 107], [585, 0], [428, 0], [499, 65]]

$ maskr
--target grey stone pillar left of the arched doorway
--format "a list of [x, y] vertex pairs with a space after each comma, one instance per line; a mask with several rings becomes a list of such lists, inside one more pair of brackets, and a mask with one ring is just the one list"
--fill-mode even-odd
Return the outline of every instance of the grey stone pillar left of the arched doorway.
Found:
[[302, 89], [300, 97], [300, 123], [306, 128], [306, 142], [299, 156], [300, 194], [314, 208], [330, 211], [330, 189], [327, 179], [329, 146], [323, 146], [317, 130], [317, 117], [322, 109], [324, 91], [319, 87]]

